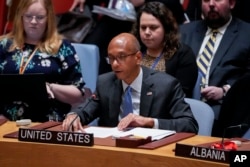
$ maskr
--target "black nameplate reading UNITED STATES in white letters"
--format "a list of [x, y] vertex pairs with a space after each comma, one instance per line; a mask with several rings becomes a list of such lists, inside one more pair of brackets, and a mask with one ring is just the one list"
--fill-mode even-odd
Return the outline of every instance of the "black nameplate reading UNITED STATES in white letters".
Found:
[[93, 146], [94, 135], [91, 133], [75, 133], [19, 128], [18, 140], [53, 144]]

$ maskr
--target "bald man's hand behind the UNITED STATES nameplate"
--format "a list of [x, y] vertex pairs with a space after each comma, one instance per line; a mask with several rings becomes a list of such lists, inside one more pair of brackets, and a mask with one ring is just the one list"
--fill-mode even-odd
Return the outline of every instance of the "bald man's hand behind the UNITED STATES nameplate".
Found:
[[62, 124], [64, 131], [84, 132], [80, 118], [77, 114], [68, 115]]

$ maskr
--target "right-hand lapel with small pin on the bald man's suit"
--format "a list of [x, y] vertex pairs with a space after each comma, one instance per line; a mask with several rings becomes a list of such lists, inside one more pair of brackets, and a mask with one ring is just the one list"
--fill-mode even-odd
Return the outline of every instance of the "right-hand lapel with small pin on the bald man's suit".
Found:
[[142, 88], [141, 88], [141, 102], [140, 102], [140, 115], [149, 116], [154, 97], [154, 90], [152, 89], [153, 83], [148, 79], [151, 75], [151, 70], [143, 69]]

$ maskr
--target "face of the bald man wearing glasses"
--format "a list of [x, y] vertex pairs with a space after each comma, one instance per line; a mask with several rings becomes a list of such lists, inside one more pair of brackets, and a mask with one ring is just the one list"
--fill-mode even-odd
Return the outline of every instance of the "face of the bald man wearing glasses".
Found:
[[130, 84], [139, 74], [140, 51], [130, 49], [123, 40], [115, 40], [108, 47], [109, 61], [117, 78]]

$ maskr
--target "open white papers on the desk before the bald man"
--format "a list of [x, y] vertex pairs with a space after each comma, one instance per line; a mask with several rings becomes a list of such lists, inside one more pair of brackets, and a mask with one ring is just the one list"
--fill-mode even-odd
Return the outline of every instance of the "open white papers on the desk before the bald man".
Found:
[[164, 137], [173, 135], [176, 131], [162, 130], [162, 129], [151, 129], [151, 128], [132, 128], [127, 131], [119, 131], [117, 128], [103, 128], [103, 127], [89, 127], [85, 129], [86, 133], [93, 133], [94, 137], [105, 138], [105, 137], [125, 137], [135, 136], [140, 138], [147, 138], [151, 136], [152, 140], [160, 140]]

